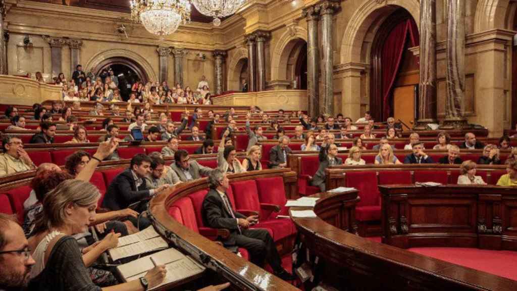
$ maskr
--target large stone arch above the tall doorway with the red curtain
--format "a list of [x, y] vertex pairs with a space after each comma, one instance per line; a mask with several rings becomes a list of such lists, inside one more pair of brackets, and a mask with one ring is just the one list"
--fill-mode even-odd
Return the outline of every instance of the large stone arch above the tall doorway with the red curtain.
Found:
[[361, 59], [361, 52], [364, 52], [365, 49], [363, 48], [365, 36], [371, 35], [368, 32], [376, 32], [378, 26], [382, 24], [382, 21], [379, 20], [399, 7], [406, 9], [411, 14], [420, 29], [420, 22], [418, 21], [420, 19], [420, 3], [418, 0], [366, 1], [354, 12], [346, 25], [341, 42], [340, 63], [367, 62], [364, 58], [368, 57], [369, 53], [362, 54], [363, 59]]

